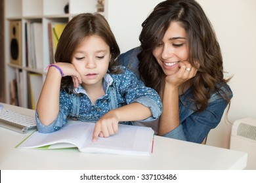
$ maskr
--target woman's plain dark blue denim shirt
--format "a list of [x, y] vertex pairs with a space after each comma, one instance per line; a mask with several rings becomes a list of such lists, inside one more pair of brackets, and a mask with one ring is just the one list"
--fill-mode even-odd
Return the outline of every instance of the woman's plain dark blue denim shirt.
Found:
[[[131, 69], [133, 73], [140, 79], [138, 65], [139, 60], [137, 54], [139, 54], [140, 48], [133, 48], [119, 56], [118, 63]], [[209, 131], [215, 128], [223, 116], [224, 110], [228, 103], [223, 99], [222, 95], [228, 93], [230, 99], [233, 94], [230, 87], [227, 84], [221, 88], [220, 93], [211, 93], [207, 108], [203, 112], [196, 112], [195, 103], [192, 101], [192, 91], [189, 88], [184, 94], [179, 96], [179, 117], [180, 125], [169, 131], [169, 133], [163, 135], [173, 139], [179, 139], [182, 141], [190, 141], [202, 143], [205, 137], [207, 137]], [[171, 102], [171, 101], [170, 101]], [[156, 120], [158, 123], [158, 120]], [[144, 125], [144, 124], [139, 124]], [[155, 124], [156, 125], [156, 124]]]

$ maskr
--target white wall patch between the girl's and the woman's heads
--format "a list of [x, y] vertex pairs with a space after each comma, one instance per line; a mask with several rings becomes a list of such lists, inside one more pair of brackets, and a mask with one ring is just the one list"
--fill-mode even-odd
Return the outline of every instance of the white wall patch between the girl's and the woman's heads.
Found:
[[106, 19], [119, 48], [125, 52], [139, 46], [141, 24], [162, 0], [105, 0]]

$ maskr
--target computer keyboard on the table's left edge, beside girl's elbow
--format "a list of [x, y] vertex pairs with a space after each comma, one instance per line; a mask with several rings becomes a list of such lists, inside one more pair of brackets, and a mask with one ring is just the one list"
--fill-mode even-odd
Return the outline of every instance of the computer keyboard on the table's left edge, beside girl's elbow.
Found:
[[6, 109], [0, 110], [0, 126], [19, 133], [36, 129], [35, 118]]

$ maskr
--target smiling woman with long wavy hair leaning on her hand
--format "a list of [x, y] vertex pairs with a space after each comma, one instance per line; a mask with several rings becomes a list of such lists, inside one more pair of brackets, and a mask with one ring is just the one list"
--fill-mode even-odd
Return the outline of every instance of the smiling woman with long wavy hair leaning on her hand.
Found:
[[232, 98], [221, 48], [202, 7], [188, 0], [159, 3], [139, 39], [140, 47], [119, 56], [119, 63], [160, 94], [158, 135], [202, 143]]

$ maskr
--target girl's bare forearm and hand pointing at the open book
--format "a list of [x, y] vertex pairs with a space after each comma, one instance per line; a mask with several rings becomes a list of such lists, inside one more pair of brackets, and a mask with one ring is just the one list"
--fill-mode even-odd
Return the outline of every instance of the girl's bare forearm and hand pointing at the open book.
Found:
[[93, 131], [93, 141], [100, 137], [109, 137], [114, 135], [118, 130], [118, 122], [139, 121], [152, 116], [150, 108], [140, 103], [131, 103], [123, 107], [110, 110], [104, 114], [95, 124]]

